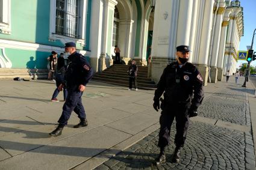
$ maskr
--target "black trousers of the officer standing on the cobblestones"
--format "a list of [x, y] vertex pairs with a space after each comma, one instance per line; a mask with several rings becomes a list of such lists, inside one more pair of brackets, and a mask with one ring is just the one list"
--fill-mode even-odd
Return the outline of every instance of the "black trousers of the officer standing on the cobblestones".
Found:
[[172, 106], [164, 106], [160, 116], [160, 132], [158, 147], [161, 150], [170, 144], [170, 127], [173, 120], [176, 120], [176, 135], [174, 143], [176, 147], [183, 147], [187, 130], [189, 128], [189, 105], [177, 103]]

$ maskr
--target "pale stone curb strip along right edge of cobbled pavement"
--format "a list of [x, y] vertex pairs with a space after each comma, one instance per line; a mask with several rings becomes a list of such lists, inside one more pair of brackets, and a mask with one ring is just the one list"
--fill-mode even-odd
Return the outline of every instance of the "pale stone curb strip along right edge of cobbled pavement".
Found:
[[[247, 88], [256, 90], [254, 84], [249, 80]], [[252, 129], [252, 137], [249, 135], [245, 135], [245, 142], [246, 142], [246, 169], [256, 169], [255, 168], [255, 153], [256, 153], [256, 98], [255, 94], [248, 94], [246, 93], [246, 98], [248, 99], [249, 103], [249, 112], [251, 115], [251, 129]], [[247, 110], [247, 109], [246, 109]], [[254, 150], [252, 151], [252, 148]]]

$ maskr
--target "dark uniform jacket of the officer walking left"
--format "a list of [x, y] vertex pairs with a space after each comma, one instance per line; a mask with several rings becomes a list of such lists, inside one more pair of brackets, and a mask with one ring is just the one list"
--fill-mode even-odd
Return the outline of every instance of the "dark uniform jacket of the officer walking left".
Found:
[[84, 85], [92, 78], [93, 70], [81, 53], [74, 52], [68, 57], [69, 65], [64, 76], [64, 82], [67, 88]]

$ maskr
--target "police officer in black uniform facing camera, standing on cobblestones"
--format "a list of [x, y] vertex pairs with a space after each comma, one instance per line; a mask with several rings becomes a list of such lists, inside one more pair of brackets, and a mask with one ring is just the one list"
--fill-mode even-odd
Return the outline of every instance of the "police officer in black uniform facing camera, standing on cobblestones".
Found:
[[[170, 142], [170, 127], [174, 118], [176, 120], [174, 141], [176, 148], [171, 161], [180, 162], [180, 152], [186, 140], [189, 117], [198, 115], [198, 106], [201, 105], [204, 98], [201, 73], [195, 65], [187, 62], [189, 52], [189, 46], [176, 47], [177, 61], [167, 65], [158, 82], [157, 90], [155, 90], [153, 107], [156, 111], [162, 109], [158, 141], [160, 154], [156, 159], [157, 165], [166, 162], [164, 148]], [[163, 93], [164, 100], [160, 98]]]

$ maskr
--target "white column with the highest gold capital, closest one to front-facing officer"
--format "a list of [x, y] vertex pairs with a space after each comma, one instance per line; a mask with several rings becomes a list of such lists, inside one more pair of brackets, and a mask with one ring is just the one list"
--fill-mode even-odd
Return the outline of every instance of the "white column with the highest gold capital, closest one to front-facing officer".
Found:
[[220, 34], [222, 28], [223, 14], [225, 12], [225, 2], [219, 3], [219, 8], [217, 9], [216, 23], [213, 34], [213, 46], [211, 49], [211, 61], [210, 61], [210, 78], [212, 83], [217, 82], [217, 59], [219, 53], [219, 44], [220, 44]]

